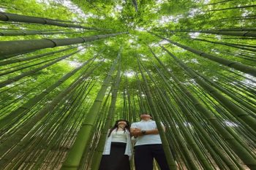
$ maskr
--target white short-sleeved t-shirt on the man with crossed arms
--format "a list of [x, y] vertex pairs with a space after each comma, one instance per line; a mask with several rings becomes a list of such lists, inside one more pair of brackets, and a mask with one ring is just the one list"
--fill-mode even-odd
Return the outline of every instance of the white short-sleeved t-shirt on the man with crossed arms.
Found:
[[[141, 131], [148, 131], [156, 129], [157, 124], [154, 120], [141, 120], [140, 122], [132, 123], [131, 128], [140, 128]], [[162, 144], [159, 134], [147, 134], [143, 136], [138, 136], [136, 139], [137, 142], [135, 146], [143, 144]]]

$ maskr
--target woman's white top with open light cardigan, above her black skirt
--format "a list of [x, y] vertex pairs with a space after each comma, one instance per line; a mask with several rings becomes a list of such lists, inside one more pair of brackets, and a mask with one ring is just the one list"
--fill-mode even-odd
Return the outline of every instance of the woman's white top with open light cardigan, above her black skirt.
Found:
[[[121, 136], [123, 136], [123, 137], [121, 137]], [[123, 139], [121, 139], [121, 138], [123, 138]], [[115, 141], [113, 141], [113, 139]], [[124, 141], [124, 139], [126, 141]], [[132, 143], [131, 143], [131, 139], [130, 139], [130, 136], [129, 136], [129, 131], [127, 131], [125, 129], [125, 133], [124, 133], [124, 131], [121, 131], [121, 133], [119, 134], [119, 132], [116, 133], [116, 128], [115, 128], [111, 132], [110, 136], [109, 137], [107, 136], [107, 139], [106, 139], [106, 142], [105, 142], [105, 147], [104, 147], [104, 150], [102, 152], [102, 155], [110, 155], [111, 142], [124, 142], [124, 143], [127, 143], [124, 155], [128, 155], [129, 158], [131, 158], [131, 156], [132, 156]]]

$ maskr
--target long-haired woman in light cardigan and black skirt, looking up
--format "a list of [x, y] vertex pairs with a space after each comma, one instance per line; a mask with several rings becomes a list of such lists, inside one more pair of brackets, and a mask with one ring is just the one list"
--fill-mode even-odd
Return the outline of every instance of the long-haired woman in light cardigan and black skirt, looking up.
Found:
[[130, 170], [129, 158], [131, 155], [129, 122], [116, 120], [115, 125], [108, 132], [99, 170]]

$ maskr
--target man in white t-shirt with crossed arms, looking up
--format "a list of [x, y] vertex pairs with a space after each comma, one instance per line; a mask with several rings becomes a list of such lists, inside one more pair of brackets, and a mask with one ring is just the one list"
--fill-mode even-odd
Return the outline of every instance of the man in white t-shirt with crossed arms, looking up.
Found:
[[[137, 139], [135, 169], [152, 170], [155, 158], [161, 170], [169, 170], [156, 122], [151, 120], [148, 113], [141, 114], [140, 119], [140, 122], [132, 123], [130, 128], [132, 136]], [[165, 130], [164, 125], [162, 126]]]

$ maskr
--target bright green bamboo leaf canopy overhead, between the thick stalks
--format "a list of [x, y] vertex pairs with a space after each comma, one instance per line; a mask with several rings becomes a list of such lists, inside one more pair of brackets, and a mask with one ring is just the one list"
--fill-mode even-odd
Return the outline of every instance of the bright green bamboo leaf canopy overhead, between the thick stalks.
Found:
[[[221, 34], [204, 34], [196, 32], [200, 30], [219, 31], [223, 29], [228, 32], [237, 31], [246, 33], [249, 31], [250, 33], [255, 34], [256, 8], [246, 7], [249, 5], [255, 5], [255, 1], [137, 0], [136, 2], [138, 4], [138, 11], [135, 10], [135, 4], [132, 0], [0, 1], [1, 12], [37, 18], [48, 18], [55, 20], [56, 22], [100, 29], [86, 30], [81, 28], [49, 26], [47, 24], [43, 25], [35, 23], [0, 21], [0, 35], [1, 32], [8, 31], [45, 31], [56, 33], [52, 35], [36, 34], [26, 36], [0, 36], [0, 41], [69, 39], [99, 34], [104, 35], [126, 31], [129, 32], [129, 34], [120, 34], [118, 36], [113, 36], [106, 39], [98, 39], [93, 42], [86, 42], [79, 45], [69, 45], [69, 47], [75, 48], [61, 53], [53, 53], [28, 61], [18, 61], [15, 63], [1, 65], [0, 74], [3, 75], [0, 77], [0, 82], [4, 82], [5, 80], [12, 80], [13, 77], [17, 77], [20, 74], [37, 69], [39, 66], [43, 66], [46, 63], [50, 63], [55, 58], [75, 52], [75, 50], [81, 50], [79, 53], [76, 53], [63, 61], [59, 61], [58, 63], [48, 66], [39, 72], [35, 72], [16, 82], [10, 83], [10, 85], [7, 85], [4, 88], [0, 88], [0, 121], [4, 120], [4, 117], [8, 116], [13, 110], [23, 106], [23, 104], [29, 101], [29, 99], [34, 98], [34, 96], [42, 93], [42, 91], [50, 87], [50, 85], [53, 85], [55, 82], [60, 80], [62, 76], [72, 72], [73, 69], [78, 68], [78, 66], [80, 66], [82, 63], [88, 61], [90, 58], [93, 58], [98, 54], [97, 58], [93, 62], [87, 64], [75, 74], [72, 74], [72, 76], [61, 83], [61, 85], [50, 91], [49, 94], [45, 95], [45, 97], [42, 98], [42, 101], [34, 104], [34, 106], [26, 110], [26, 112], [20, 112], [20, 117], [8, 122], [9, 124], [7, 123], [7, 128], [4, 128], [2, 133], [4, 136], [2, 139], [4, 139], [4, 141], [5, 137], [8, 137], [8, 133], [15, 134], [15, 131], [17, 131], [18, 128], [22, 127], [23, 124], [26, 124], [26, 122], [29, 121], [29, 117], [33, 117], [33, 115], [39, 112], [42, 108], [48, 107], [50, 101], [53, 101], [53, 99], [59, 93], [67, 89], [69, 85], [72, 85], [75, 80], [82, 77], [84, 72], [89, 72], [94, 68], [94, 66], [97, 66], [97, 64], [100, 63], [100, 65], [94, 69], [94, 72], [92, 72], [86, 80], [83, 80], [78, 87], [72, 90], [71, 93], [67, 94], [65, 98], [61, 98], [59, 103], [54, 105], [53, 109], [50, 110], [44, 117], [44, 120], [49, 120], [49, 122], [48, 124], [45, 123], [45, 126], [42, 125], [42, 131], [46, 131], [48, 133], [48, 125], [52, 125], [52, 127], [55, 127], [54, 125], [56, 125], [56, 129], [64, 129], [64, 133], [66, 133], [68, 136], [67, 138], [69, 138], [70, 134], [72, 134], [70, 138], [75, 140], [74, 134], [78, 133], [80, 124], [83, 122], [84, 117], [86, 117], [91, 105], [94, 103], [94, 99], [102, 86], [103, 80], [108, 77], [110, 66], [116, 59], [120, 47], [123, 47], [123, 50], [121, 51], [121, 60], [120, 63], [118, 63], [121, 66], [121, 82], [118, 88], [116, 111], [113, 115], [114, 119], [126, 118], [127, 120], [135, 121], [138, 120], [137, 115], [142, 109], [149, 108], [148, 101], [146, 100], [145, 82], [141, 77], [138, 66], [139, 60], [143, 66], [142, 72], [148, 79], [148, 87], [151, 89], [153, 100], [159, 105], [157, 106], [159, 115], [164, 115], [163, 107], [165, 107], [165, 104], [162, 101], [163, 98], [161, 98], [161, 95], [158, 94], [160, 89], [162, 90], [161, 93], [165, 93], [167, 102], [170, 102], [169, 104], [171, 107], [169, 108], [168, 112], [175, 112], [177, 114], [176, 118], [173, 120], [174, 124], [176, 124], [176, 122], [182, 122], [184, 124], [189, 122], [189, 118], [187, 115], [184, 115], [184, 112], [180, 107], [181, 105], [177, 103], [176, 98], [181, 98], [181, 101], [178, 102], [183, 102], [186, 104], [189, 112], [192, 112], [195, 116], [195, 120], [197, 120], [198, 123], [202, 123], [202, 127], [206, 128], [206, 131], [211, 134], [210, 136], [212, 139], [216, 139], [218, 141], [217, 143], [219, 146], [222, 148], [226, 147], [226, 145], [223, 144], [225, 142], [222, 142], [222, 138], [219, 137], [219, 131], [217, 131], [214, 126], [209, 125], [208, 119], [204, 117], [205, 115], [202, 115], [197, 110], [197, 107], [193, 105], [191, 98], [188, 98], [184, 94], [184, 90], [181, 88], [181, 85], [188, 88], [192, 95], [194, 95], [198, 101], [203, 103], [204, 107], [210, 110], [213, 115], [216, 115], [217, 120], [222, 123], [223, 127], [226, 126], [224, 123], [225, 120], [229, 120], [231, 123], [241, 125], [240, 119], [233, 117], [233, 115], [230, 114], [230, 110], [222, 105], [222, 101], [217, 101], [214, 99], [210, 93], [207, 93], [206, 90], [204, 90], [200, 85], [197, 84], [197, 82], [195, 82], [195, 80], [193, 80], [193, 77], [189, 77], [189, 75], [184, 72], [184, 69], [182, 69], [181, 66], [178, 66], [178, 63], [173, 60], [173, 58], [171, 58], [170, 55], [168, 55], [164, 50], [162, 50], [159, 45], [165, 47], [170, 51], [170, 53], [173, 53], [173, 55], [183, 61], [187, 66], [194, 69], [196, 72], [200, 72], [200, 74], [208, 77], [208, 79], [213, 80], [230, 93], [233, 93], [237, 98], [241, 98], [241, 100], [246, 102], [246, 104], [250, 104], [252, 107], [256, 106], [255, 77], [203, 58], [200, 55], [191, 53], [176, 45], [172, 45], [166, 41], [163, 41], [159, 37], [154, 36], [154, 34], [159, 34], [167, 39], [171, 39], [173, 42], [178, 42], [181, 45], [186, 45], [187, 47], [191, 47], [196, 50], [201, 50], [204, 53], [209, 53], [219, 58], [236, 61], [238, 63], [243, 63], [245, 66], [255, 68], [256, 53], [253, 51], [255, 50], [255, 36], [227, 36]], [[69, 34], [59, 34], [61, 32], [68, 32]], [[151, 34], [151, 32], [154, 34]], [[214, 44], [211, 42], [203, 42], [196, 40], [195, 38], [205, 39], [211, 42], [235, 44], [236, 48], [227, 45]], [[157, 59], [154, 58], [154, 55], [151, 53], [151, 50], [149, 50], [149, 47], [151, 47], [151, 50], [154, 52], [157, 58], [164, 63], [166, 67], [165, 69], [163, 66], [161, 66], [161, 64], [159, 64]], [[243, 50], [243, 47], [249, 47], [251, 50]], [[23, 60], [24, 58], [55, 52], [56, 50], [63, 50], [64, 48], [67, 47], [46, 48], [32, 51], [31, 53], [9, 56], [10, 58], [1, 60], [0, 64], [1, 62], [15, 59]], [[113, 77], [116, 77], [118, 64], [116, 65]], [[16, 72], [12, 72], [15, 69], [18, 70]], [[168, 71], [171, 71], [174, 77], [170, 77]], [[7, 72], [11, 73], [7, 74]], [[151, 81], [147, 72], [151, 74], [154, 81]], [[111, 90], [110, 87], [114, 83], [113, 78], [113, 80], [110, 81], [110, 85], [108, 85], [107, 93]], [[170, 90], [169, 88], [173, 89]], [[105, 96], [107, 93], [105, 93]], [[252, 110], [250, 111], [249, 107], [245, 107], [243, 104], [240, 104], [235, 97], [230, 97], [224, 92], [221, 93], [223, 96], [227, 96], [227, 98], [229, 98], [230, 101], [233, 101], [238, 107], [244, 109], [249, 115], [255, 117], [255, 113], [252, 112]], [[79, 98], [78, 101], [76, 101], [77, 98]], [[104, 100], [107, 99], [104, 98]], [[105, 111], [108, 110], [110, 99], [108, 99], [106, 102], [107, 106], [104, 109]], [[204, 110], [202, 108], [200, 109]], [[97, 109], [99, 109], [99, 107]], [[64, 116], [61, 117], [61, 114]], [[97, 121], [99, 121], [99, 124], [97, 124], [97, 132], [100, 131], [102, 122], [105, 122], [104, 117], [106, 117], [106, 114], [107, 112], [102, 112], [102, 115], [97, 115]], [[57, 116], [59, 116], [59, 119]], [[160, 118], [165, 120], [165, 115], [160, 116]], [[53, 120], [59, 120], [60, 122], [56, 123], [53, 122]], [[67, 122], [65, 122], [66, 120]], [[38, 120], [37, 123], [40, 125], [39, 123], [42, 123], [42, 120]], [[12, 125], [14, 126], [12, 127]], [[244, 143], [250, 145], [248, 148], [251, 149], [254, 147], [255, 149], [255, 144], [252, 142], [253, 139], [251, 136], [247, 135], [252, 133], [252, 131], [246, 129], [244, 125], [241, 125], [241, 127], [242, 128], [237, 128], [236, 126], [231, 127], [232, 131], [234, 131], [232, 132], [232, 135], [241, 136], [241, 139], [239, 139], [241, 140], [241, 143], [246, 141]], [[167, 131], [170, 131], [170, 135], [173, 135], [173, 131], [169, 128], [169, 126], [167, 126], [167, 128]], [[37, 130], [37, 128], [35, 129]], [[41, 128], [39, 129], [41, 130]], [[33, 131], [36, 130], [33, 129]], [[249, 133], [244, 132], [247, 130]], [[183, 136], [183, 133], [180, 132], [179, 129], [176, 131], [176, 133], [181, 135], [179, 139], [186, 139], [186, 136]], [[194, 131], [196, 131], [195, 127], [190, 128], [190, 131], [193, 131], [194, 133]], [[41, 131], [37, 133], [41, 134]], [[65, 136], [66, 134], [61, 135]], [[51, 137], [50, 135], [45, 136], [49, 136], [49, 138]], [[99, 136], [99, 134], [96, 136]], [[47, 139], [43, 136], [42, 138]], [[172, 140], [172, 138], [174, 137], [172, 136], [170, 139]], [[64, 140], [67, 139], [63, 139], [63, 141]], [[196, 140], [200, 141], [200, 139]], [[184, 142], [185, 145], [187, 144], [185, 141], [182, 142]], [[35, 145], [36, 144], [37, 143], [35, 142]], [[57, 145], [57, 142], [54, 144]], [[66, 144], [67, 146], [70, 146], [72, 142], [70, 141]], [[0, 145], [0, 147], [1, 146], [4, 145]], [[191, 150], [189, 144], [186, 146], [188, 146], [189, 150]], [[45, 148], [50, 150], [48, 146]], [[178, 147], [176, 144], [176, 150], [179, 154], [178, 156], [184, 158], [184, 155], [182, 155], [181, 151], [177, 148]], [[27, 148], [24, 150], [26, 149]], [[206, 148], [203, 146], [200, 149], [203, 150], [203, 152], [206, 150]], [[230, 150], [230, 147], [227, 147], [227, 151], [228, 153], [233, 152], [233, 150]], [[45, 152], [45, 154], [47, 153]], [[188, 155], [193, 154], [188, 153]], [[86, 156], [88, 158], [92, 158], [90, 155]], [[208, 155], [205, 156], [208, 157]], [[23, 158], [25, 158], [25, 156], [23, 156]], [[42, 160], [44, 158], [46, 158], [45, 155], [42, 155]], [[239, 158], [242, 158], [241, 155]], [[197, 158], [195, 158], [195, 160], [197, 160]], [[17, 163], [17, 166], [22, 161], [23, 160], [20, 160], [20, 162]], [[241, 160], [235, 157], [233, 158], [233, 162], [238, 161]], [[15, 169], [14, 167], [12, 168]], [[226, 168], [227, 167], [225, 167], [225, 169]]]

